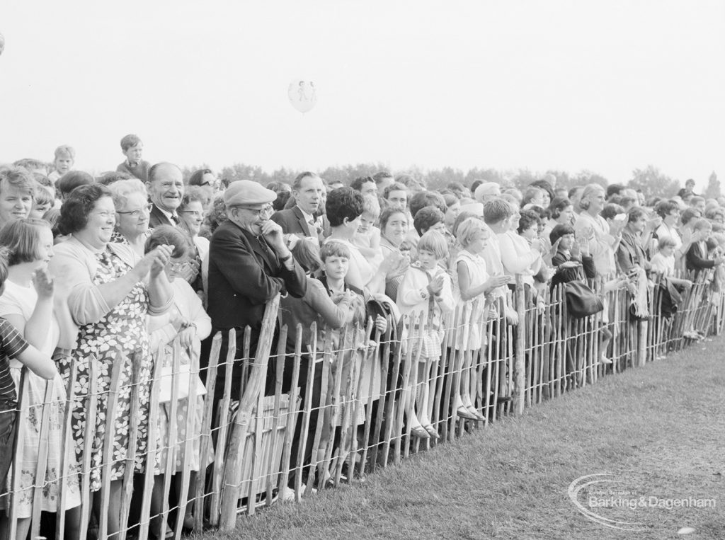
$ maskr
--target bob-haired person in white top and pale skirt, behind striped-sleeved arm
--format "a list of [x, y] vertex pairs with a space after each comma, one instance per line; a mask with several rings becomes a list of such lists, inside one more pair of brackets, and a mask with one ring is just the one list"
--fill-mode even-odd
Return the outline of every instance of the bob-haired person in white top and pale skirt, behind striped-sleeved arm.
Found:
[[[25, 339], [43, 354], [51, 357], [59, 341], [60, 328], [53, 315], [54, 285], [47, 267], [53, 257], [53, 233], [46, 221], [28, 219], [7, 223], [0, 230], [0, 245], [9, 249], [9, 275], [5, 290], [0, 297], [0, 316], [11, 323]], [[22, 363], [10, 360], [10, 373], [20, 394]], [[73, 446], [65, 446], [63, 422], [66, 391], [63, 379], [58, 374], [53, 381], [46, 381], [30, 370], [26, 371], [26, 393], [23, 401], [28, 403], [28, 415], [22, 430], [22, 462], [20, 465], [20, 493], [17, 497], [17, 539], [25, 539], [30, 529], [35, 487], [41, 490], [41, 510], [58, 511], [58, 475], [62, 460], [60, 449], [65, 448], [65, 459], [70, 463], [63, 483], [66, 494], [65, 534], [68, 538], [78, 537], [80, 525], [80, 489], [78, 486], [78, 464]], [[46, 402], [47, 385], [52, 385], [50, 407], [51, 417], [43, 436], [46, 438], [46, 476], [36, 478], [38, 447], [41, 444], [41, 418], [43, 403]], [[12, 475], [8, 475], [12, 478]], [[8, 486], [10, 487], [10, 486]], [[7, 501], [7, 497], [3, 501]], [[4, 517], [4, 515], [3, 515]]]

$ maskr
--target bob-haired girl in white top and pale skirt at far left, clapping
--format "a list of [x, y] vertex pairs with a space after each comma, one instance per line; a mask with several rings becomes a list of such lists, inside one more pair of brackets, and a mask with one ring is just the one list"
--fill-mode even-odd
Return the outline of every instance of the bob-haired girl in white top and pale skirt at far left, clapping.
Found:
[[[49, 259], [53, 256], [53, 235], [49, 225], [41, 220], [17, 220], [7, 223], [0, 230], [0, 245], [9, 249], [9, 257], [0, 257], [0, 333], [4, 351], [0, 360], [0, 486], [6, 487], [6, 475], [13, 457], [14, 409], [16, 408], [16, 387], [20, 383], [22, 366], [28, 365], [27, 394], [23, 399], [28, 403], [28, 415], [25, 417], [20, 467], [20, 494], [17, 499], [17, 538], [25, 539], [30, 528], [33, 511], [34, 487], [45, 484], [41, 497], [41, 510], [56, 512], [58, 483], [60, 472], [60, 449], [65, 447], [63, 440], [63, 418], [65, 414], [65, 385], [58, 375], [51, 354], [58, 343], [59, 326], [53, 317], [54, 284], [47, 273]], [[7, 262], [10, 263], [8, 268]], [[13, 328], [14, 327], [14, 328]], [[15, 330], [17, 328], [17, 331]], [[25, 339], [21, 336], [25, 336]], [[28, 345], [30, 344], [30, 345]], [[36, 347], [38, 349], [36, 349]], [[5, 355], [15, 359], [8, 363]], [[28, 360], [38, 362], [30, 364]], [[47, 380], [53, 381], [53, 396], [46, 405], [51, 407], [48, 431], [48, 456], [46, 477], [36, 478], [38, 465], [38, 446], [43, 403], [46, 401]], [[12, 412], [5, 412], [12, 410]], [[78, 488], [78, 470], [72, 447], [67, 448], [66, 459], [70, 460], [67, 477], [65, 509], [65, 533], [70, 537], [78, 536], [80, 491]], [[3, 500], [5, 503], [7, 499]], [[7, 504], [4, 504], [7, 507]], [[7, 532], [7, 516], [1, 512], [2, 532]]]

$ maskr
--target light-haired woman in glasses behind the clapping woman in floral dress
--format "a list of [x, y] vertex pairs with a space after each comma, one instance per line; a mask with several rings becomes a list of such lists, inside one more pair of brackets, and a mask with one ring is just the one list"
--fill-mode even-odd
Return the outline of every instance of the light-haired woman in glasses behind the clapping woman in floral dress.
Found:
[[116, 208], [116, 227], [112, 242], [128, 244], [136, 254], [144, 256], [144, 245], [149, 237], [151, 204], [146, 186], [141, 180], [118, 180], [109, 186]]

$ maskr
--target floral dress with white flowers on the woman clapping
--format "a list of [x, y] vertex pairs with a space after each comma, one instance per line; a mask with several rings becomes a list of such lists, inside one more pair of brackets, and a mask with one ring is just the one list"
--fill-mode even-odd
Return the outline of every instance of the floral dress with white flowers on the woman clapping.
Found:
[[[106, 249], [96, 255], [98, 267], [93, 283], [101, 285], [115, 281], [125, 275], [131, 267], [115, 253]], [[70, 362], [78, 366], [75, 381], [75, 403], [72, 414], [72, 433], [75, 441], [75, 454], [78, 460], [83, 458], [83, 437], [86, 431], [88, 410], [88, 375], [91, 354], [98, 359], [96, 372], [96, 433], [91, 449], [91, 491], [101, 489], [101, 462], [106, 431], [106, 413], [108, 391], [111, 384], [113, 363], [118, 354], [123, 365], [120, 369], [120, 385], [117, 396], [116, 419], [114, 423], [113, 448], [111, 459], [111, 480], [123, 478], [125, 459], [128, 452], [130, 426], [130, 383], [132, 360], [136, 355], [141, 362], [138, 384], [138, 416], [133, 418], [136, 431], [136, 467], [137, 472], [144, 471], [144, 454], [149, 431], [149, 397], [152, 378], [152, 356], [149, 353], [149, 336], [146, 331], [146, 313], [149, 309], [149, 294], [144, 283], [136, 283], [125, 298], [96, 323], [83, 325], [78, 333], [78, 346], [72, 356], [59, 362], [64, 377], [70, 373]], [[138, 353], [138, 354], [136, 354]]]

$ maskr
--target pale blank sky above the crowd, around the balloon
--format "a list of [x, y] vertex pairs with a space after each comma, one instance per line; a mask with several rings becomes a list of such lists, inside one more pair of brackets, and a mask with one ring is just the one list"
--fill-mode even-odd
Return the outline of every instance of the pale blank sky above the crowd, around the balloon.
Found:
[[[3, 0], [0, 162], [725, 177], [725, 1]], [[312, 80], [305, 115], [292, 80]]]

